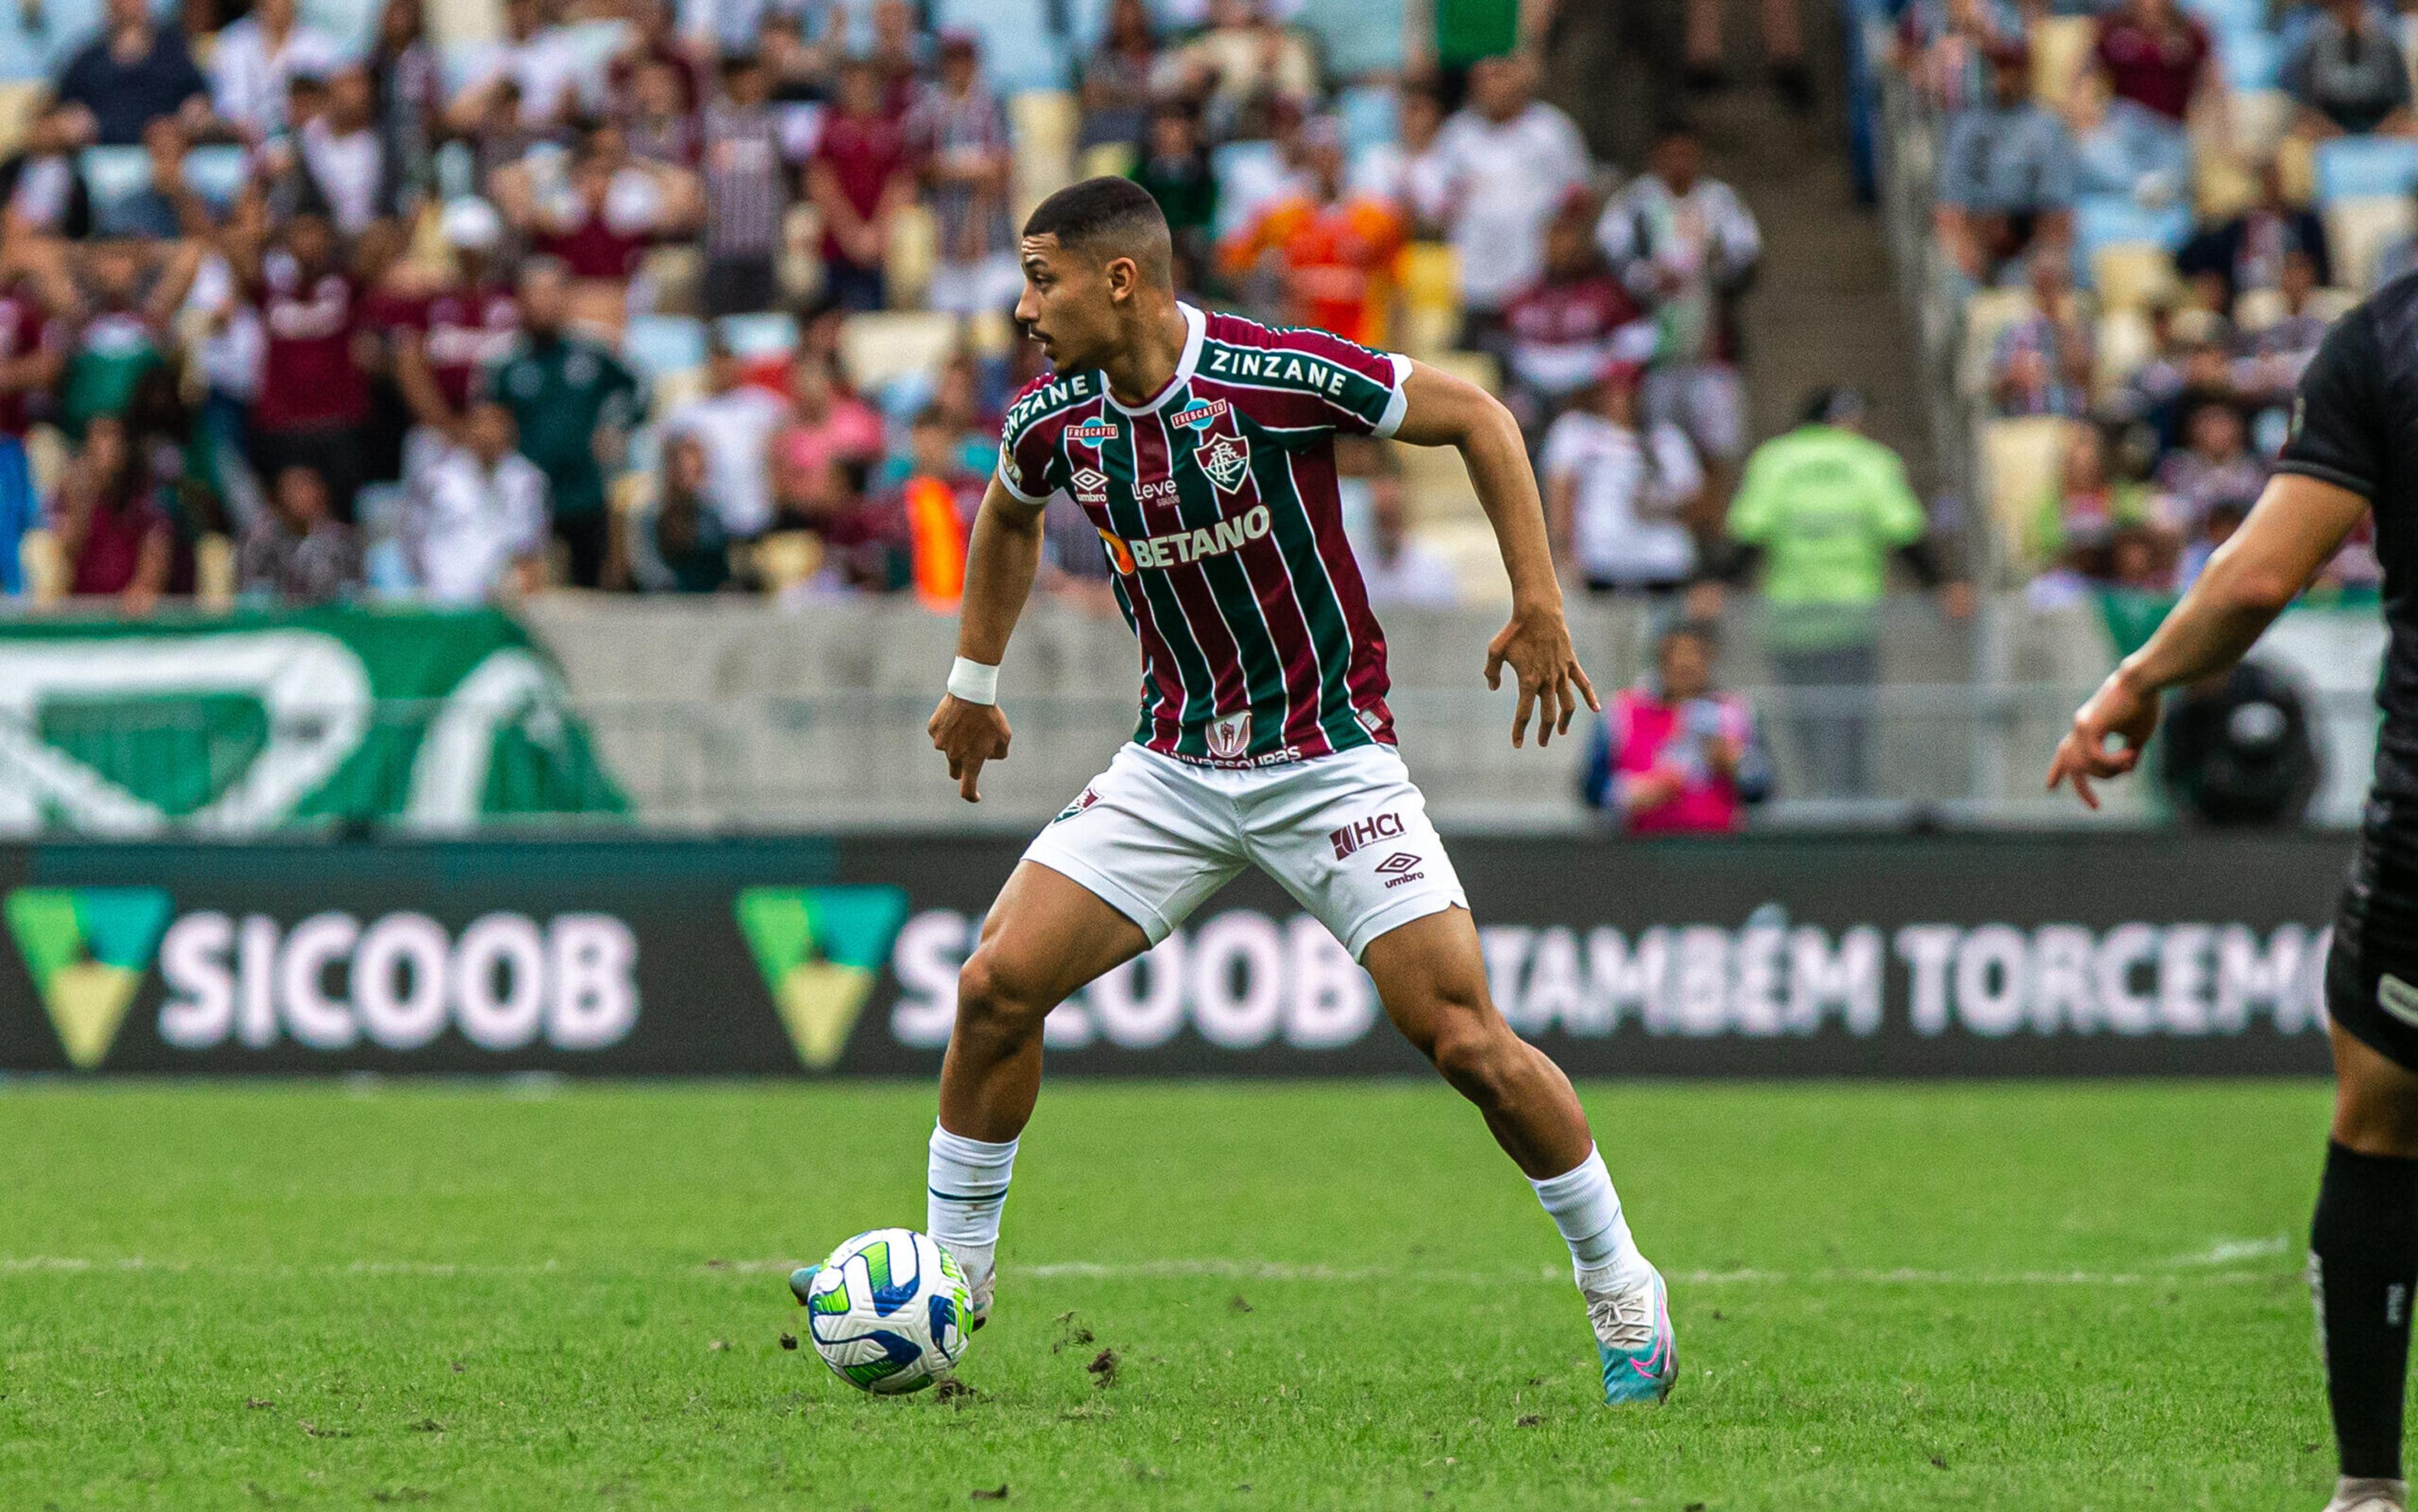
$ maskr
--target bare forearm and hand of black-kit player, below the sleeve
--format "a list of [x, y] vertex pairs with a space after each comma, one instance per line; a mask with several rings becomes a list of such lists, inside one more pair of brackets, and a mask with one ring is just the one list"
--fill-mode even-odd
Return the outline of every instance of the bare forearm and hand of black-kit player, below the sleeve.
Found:
[[[2048, 762], [2048, 786], [2075, 784], [2099, 808], [2094, 779], [2123, 777], [2157, 731], [2159, 694], [2241, 660], [2275, 614], [2300, 598], [2353, 532], [2367, 498], [2302, 474], [2278, 474], [2150, 644], [2123, 658], [2082, 709]], [[2108, 750], [2116, 735], [2121, 745]]]

